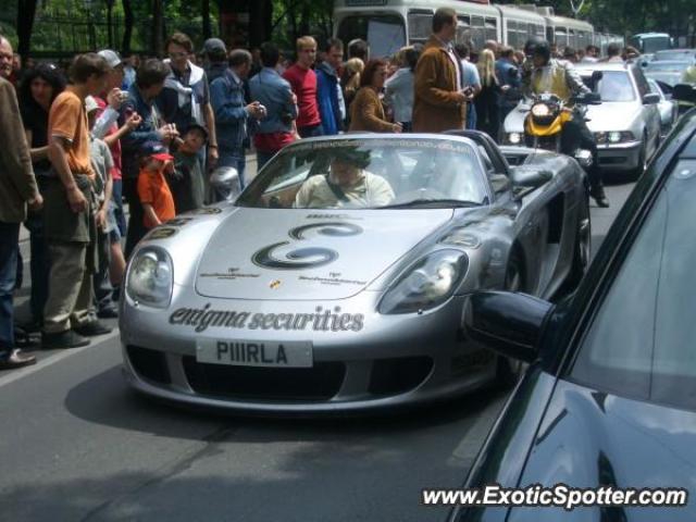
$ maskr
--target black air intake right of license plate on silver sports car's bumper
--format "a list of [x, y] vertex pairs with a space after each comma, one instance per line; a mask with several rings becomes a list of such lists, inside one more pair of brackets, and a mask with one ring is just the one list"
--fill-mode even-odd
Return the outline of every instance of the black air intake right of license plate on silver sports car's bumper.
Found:
[[425, 381], [432, 369], [430, 357], [377, 359], [372, 365], [369, 390], [375, 396], [403, 394]]

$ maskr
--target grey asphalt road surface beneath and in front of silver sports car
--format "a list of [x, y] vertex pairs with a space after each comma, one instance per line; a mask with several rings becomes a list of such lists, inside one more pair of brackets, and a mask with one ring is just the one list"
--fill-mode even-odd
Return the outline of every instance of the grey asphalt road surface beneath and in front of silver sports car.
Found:
[[[592, 208], [596, 248], [631, 185]], [[26, 309], [26, 289], [20, 291]], [[112, 322], [114, 323], [114, 322]], [[152, 402], [121, 375], [117, 332], [0, 372], [0, 520], [442, 521], [506, 395], [366, 419], [256, 419]]]

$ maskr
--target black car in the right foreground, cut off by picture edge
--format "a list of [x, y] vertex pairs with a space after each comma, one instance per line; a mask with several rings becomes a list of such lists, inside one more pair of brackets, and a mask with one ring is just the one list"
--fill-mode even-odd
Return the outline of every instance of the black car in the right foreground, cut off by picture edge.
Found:
[[695, 269], [693, 110], [634, 188], [573, 297], [552, 306], [481, 291], [465, 312], [470, 337], [530, 366], [464, 488], [678, 488], [672, 500], [686, 505], [458, 506], [450, 522], [696, 520]]

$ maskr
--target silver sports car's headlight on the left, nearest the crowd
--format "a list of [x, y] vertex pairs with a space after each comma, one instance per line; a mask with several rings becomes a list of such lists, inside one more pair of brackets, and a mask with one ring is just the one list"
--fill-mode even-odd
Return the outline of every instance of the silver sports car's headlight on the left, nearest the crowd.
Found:
[[170, 256], [161, 248], [138, 250], [128, 268], [126, 291], [135, 301], [154, 308], [166, 308], [172, 298], [174, 271]]

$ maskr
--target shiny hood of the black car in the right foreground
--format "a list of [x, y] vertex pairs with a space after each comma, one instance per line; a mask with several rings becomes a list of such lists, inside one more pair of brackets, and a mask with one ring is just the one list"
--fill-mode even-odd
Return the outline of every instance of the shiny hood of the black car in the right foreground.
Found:
[[[696, 413], [624, 399], [559, 381], [520, 486], [683, 487], [684, 508], [560, 508], [534, 510], [535, 522], [696, 520]], [[658, 510], [659, 509], [659, 510]], [[666, 511], [667, 510], [667, 511]], [[529, 520], [512, 509], [509, 521]]]

